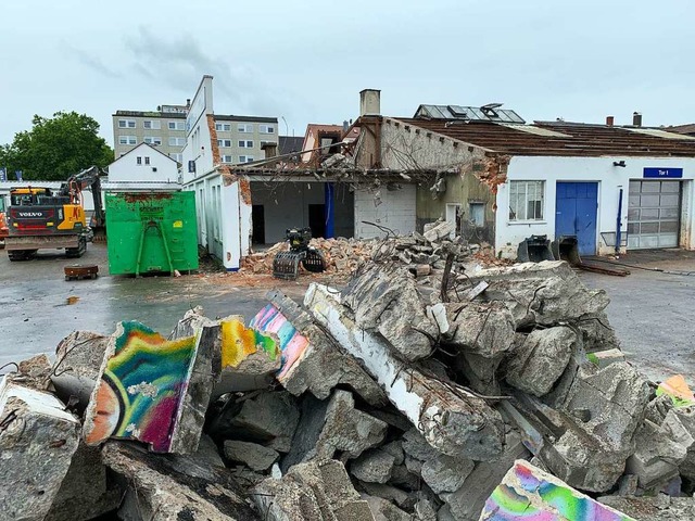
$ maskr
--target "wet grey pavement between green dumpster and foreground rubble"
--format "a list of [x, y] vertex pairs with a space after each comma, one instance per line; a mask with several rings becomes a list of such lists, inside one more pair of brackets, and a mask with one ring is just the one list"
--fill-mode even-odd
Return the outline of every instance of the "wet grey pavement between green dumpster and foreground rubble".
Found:
[[[306, 279], [266, 281], [256, 288], [249, 280], [237, 284], [231, 276], [217, 274], [112, 277], [104, 244], [89, 244], [79, 259], [54, 252], [10, 263], [0, 250], [0, 366], [39, 353], [53, 355], [58, 343], [76, 329], [111, 334], [121, 320], [139, 320], [167, 335], [188, 309], [199, 305], [208, 317], [249, 319], [267, 304], [264, 295], [271, 285], [301, 298], [308, 284]], [[65, 281], [63, 267], [76, 263], [98, 265], [100, 277]], [[68, 305], [68, 297], [76, 297], [75, 304]]]

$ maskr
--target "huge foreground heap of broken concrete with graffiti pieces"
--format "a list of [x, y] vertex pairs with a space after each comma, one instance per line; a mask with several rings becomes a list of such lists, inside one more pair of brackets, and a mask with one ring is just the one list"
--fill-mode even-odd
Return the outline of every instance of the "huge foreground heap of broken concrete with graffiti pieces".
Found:
[[695, 396], [626, 361], [605, 292], [438, 247], [441, 272], [389, 250], [248, 322], [195, 308], [168, 338], [122, 322], [21, 364], [0, 519], [692, 518]]

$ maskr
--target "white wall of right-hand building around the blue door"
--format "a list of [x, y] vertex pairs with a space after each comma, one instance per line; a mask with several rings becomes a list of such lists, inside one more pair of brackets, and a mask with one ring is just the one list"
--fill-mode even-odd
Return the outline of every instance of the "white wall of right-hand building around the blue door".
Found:
[[[614, 162], [624, 161], [626, 167], [614, 166]], [[497, 214], [495, 250], [506, 258], [516, 257], [519, 242], [528, 237], [547, 236], [555, 238], [555, 196], [558, 181], [598, 182], [598, 212], [596, 223], [596, 250], [599, 255], [615, 252], [602, 240], [602, 232], [615, 232], [618, 218], [618, 199], [623, 189], [622, 232], [628, 229], [628, 200], [630, 180], [643, 180], [645, 167], [683, 168], [683, 204], [681, 215], [681, 245], [695, 249], [692, 233], [695, 226], [695, 158], [656, 157], [538, 157], [515, 156], [509, 162], [507, 182], [497, 188]], [[509, 221], [509, 183], [513, 180], [545, 180], [545, 206], [543, 220]]]

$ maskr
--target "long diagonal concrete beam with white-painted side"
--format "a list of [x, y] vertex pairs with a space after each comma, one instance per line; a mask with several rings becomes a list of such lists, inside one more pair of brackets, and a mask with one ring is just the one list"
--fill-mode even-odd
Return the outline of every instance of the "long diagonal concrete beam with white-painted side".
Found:
[[386, 390], [438, 450], [469, 459], [492, 459], [502, 452], [502, 417], [483, 399], [450, 382], [425, 377], [392, 356], [383, 340], [357, 327], [336, 293], [312, 284], [305, 305], [314, 317]]

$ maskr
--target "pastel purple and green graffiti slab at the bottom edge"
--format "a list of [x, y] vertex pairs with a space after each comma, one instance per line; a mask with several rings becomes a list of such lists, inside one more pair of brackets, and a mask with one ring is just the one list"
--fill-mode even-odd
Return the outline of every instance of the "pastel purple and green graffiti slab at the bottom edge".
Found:
[[634, 521], [526, 461], [517, 461], [485, 501], [486, 521]]

